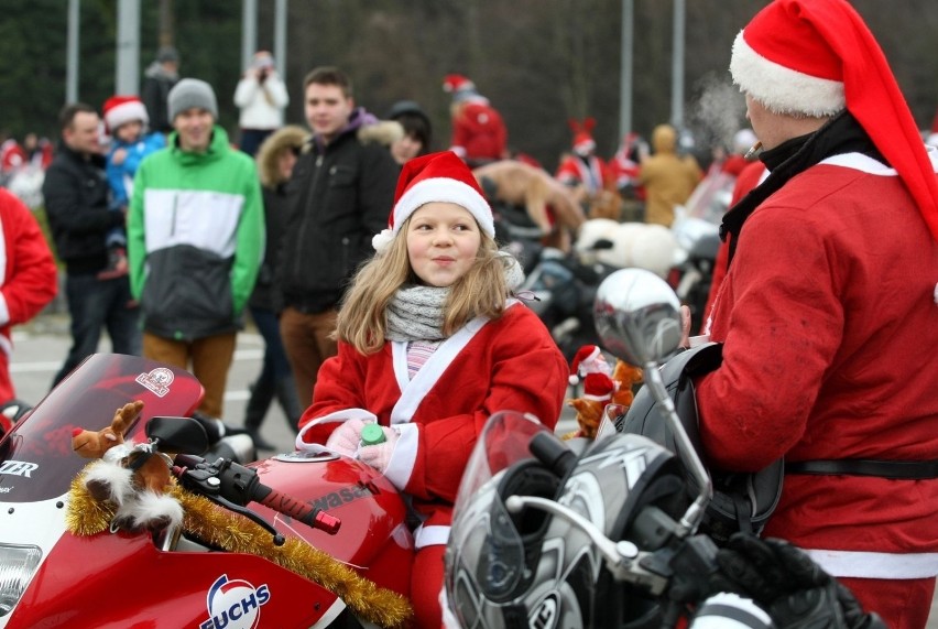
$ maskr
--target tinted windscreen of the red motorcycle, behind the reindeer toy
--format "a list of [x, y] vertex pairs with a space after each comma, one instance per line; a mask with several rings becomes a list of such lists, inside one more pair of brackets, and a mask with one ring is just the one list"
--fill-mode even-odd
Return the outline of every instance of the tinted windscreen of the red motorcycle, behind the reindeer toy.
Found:
[[68, 491], [88, 464], [72, 451], [76, 429], [100, 431], [114, 412], [140, 400], [143, 410], [126, 437], [146, 441], [157, 415], [188, 415], [204, 389], [189, 372], [139, 356], [95, 354], [75, 368], [0, 442], [0, 500], [33, 502]]

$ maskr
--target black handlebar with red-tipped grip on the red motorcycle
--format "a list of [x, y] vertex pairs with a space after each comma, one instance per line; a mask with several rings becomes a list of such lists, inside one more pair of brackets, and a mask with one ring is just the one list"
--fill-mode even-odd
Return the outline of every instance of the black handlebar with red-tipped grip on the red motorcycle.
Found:
[[206, 497], [219, 497], [237, 507], [258, 502], [304, 524], [335, 535], [341, 520], [261, 482], [258, 473], [227, 458], [208, 463], [190, 454], [178, 454], [173, 474], [184, 487]]

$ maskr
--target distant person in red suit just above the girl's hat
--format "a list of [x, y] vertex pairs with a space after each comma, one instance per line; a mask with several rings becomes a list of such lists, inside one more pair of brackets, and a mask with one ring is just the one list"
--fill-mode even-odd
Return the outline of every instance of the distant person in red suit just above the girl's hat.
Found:
[[449, 150], [475, 169], [497, 160], [506, 160], [508, 128], [501, 113], [480, 95], [476, 84], [458, 74], [448, 74], [444, 91], [452, 94], [450, 121], [452, 139]]

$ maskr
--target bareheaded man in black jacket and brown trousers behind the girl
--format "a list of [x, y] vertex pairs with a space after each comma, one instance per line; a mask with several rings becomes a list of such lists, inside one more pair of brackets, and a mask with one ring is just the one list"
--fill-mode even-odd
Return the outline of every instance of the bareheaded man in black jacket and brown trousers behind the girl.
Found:
[[337, 351], [330, 335], [342, 292], [386, 227], [400, 167], [385, 147], [359, 140], [358, 130], [377, 120], [356, 107], [341, 71], [306, 76], [304, 110], [313, 140], [287, 184], [293, 210], [279, 273], [281, 337], [305, 408], [319, 366]]

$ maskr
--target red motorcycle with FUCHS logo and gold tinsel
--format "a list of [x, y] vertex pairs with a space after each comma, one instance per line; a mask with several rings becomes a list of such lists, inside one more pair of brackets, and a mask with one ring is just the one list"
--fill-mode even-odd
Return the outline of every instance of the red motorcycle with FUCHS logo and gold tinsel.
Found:
[[[201, 395], [184, 370], [99, 354], [0, 441], [0, 628], [406, 621], [413, 539], [396, 489], [325, 449], [247, 466], [201, 458], [205, 433], [184, 417]], [[178, 527], [89, 532], [73, 481], [88, 460], [72, 452], [73, 431], [102, 430], [135, 400], [143, 410], [127, 437], [181, 453], [171, 495], [185, 517]], [[86, 529], [73, 532], [76, 521]]]

